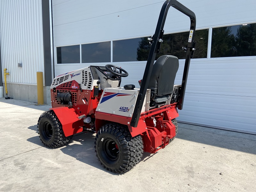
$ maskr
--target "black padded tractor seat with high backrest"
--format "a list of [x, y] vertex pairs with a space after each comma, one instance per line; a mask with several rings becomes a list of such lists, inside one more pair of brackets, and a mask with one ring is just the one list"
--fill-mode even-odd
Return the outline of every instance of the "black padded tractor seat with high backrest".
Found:
[[[151, 99], [158, 102], [157, 98], [166, 98], [173, 92], [174, 80], [179, 68], [179, 59], [172, 55], [163, 55], [159, 57], [154, 66], [148, 83], [148, 89], [151, 89]], [[163, 102], [160, 99], [159, 102]]]

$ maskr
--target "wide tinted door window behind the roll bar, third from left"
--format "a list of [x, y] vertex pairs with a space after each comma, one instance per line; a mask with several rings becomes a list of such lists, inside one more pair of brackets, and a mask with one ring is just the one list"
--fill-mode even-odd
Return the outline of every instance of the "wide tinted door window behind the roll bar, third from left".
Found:
[[[187, 46], [188, 35], [189, 32], [164, 35], [164, 41], [156, 59], [162, 55], [174, 55], [179, 59], [185, 59], [186, 52], [182, 50], [182, 47]], [[206, 58], [208, 29], [196, 30], [194, 41], [196, 41], [194, 58]], [[149, 50], [148, 37], [113, 41], [113, 62], [145, 61], [148, 60]]]

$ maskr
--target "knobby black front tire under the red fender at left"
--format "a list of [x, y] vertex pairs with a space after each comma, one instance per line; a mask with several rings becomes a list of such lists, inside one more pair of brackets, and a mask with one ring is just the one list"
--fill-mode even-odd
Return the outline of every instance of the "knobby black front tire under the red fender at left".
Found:
[[60, 120], [53, 110], [45, 111], [37, 123], [39, 138], [49, 148], [58, 148], [66, 145], [73, 135], [65, 137]]

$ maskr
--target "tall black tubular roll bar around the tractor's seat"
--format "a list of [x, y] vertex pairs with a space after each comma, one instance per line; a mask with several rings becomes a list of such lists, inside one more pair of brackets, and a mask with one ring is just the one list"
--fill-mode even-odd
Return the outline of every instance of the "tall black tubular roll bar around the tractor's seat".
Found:
[[[152, 40], [153, 43], [152, 43], [152, 46], [151, 46], [151, 49], [150, 49], [150, 52], [148, 55], [148, 61], [146, 64], [142, 83], [140, 86], [140, 92], [138, 94], [138, 98], [137, 98], [136, 104], [134, 106], [134, 111], [132, 114], [132, 120], [131, 120], [131, 124], [130, 124], [132, 127], [137, 127], [138, 122], [139, 122], [142, 104], [143, 104], [143, 101], [144, 101], [144, 98], [145, 98], [145, 95], [147, 92], [149, 78], [150, 78], [150, 75], [152, 72], [154, 61], [156, 59], [157, 46], [159, 43], [161, 44], [161, 42], [159, 42], [158, 40], [159, 40], [161, 32], [163, 32], [165, 19], [166, 19], [167, 12], [168, 12], [170, 6], [174, 7], [175, 9], [184, 13], [185, 15], [187, 15], [190, 18], [190, 30], [196, 29], [196, 15], [194, 12], [192, 12], [191, 10], [189, 10], [187, 7], [180, 4], [176, 0], [167, 0], [164, 2], [164, 5], [162, 6], [162, 9], [161, 9], [161, 12], [160, 12], [160, 15], [158, 18], [158, 22], [156, 25], [156, 32], [155, 32], [153, 40]], [[178, 109], [180, 109], [180, 110], [182, 109], [182, 106], [183, 106], [183, 99], [184, 99], [184, 93], [185, 93], [185, 88], [186, 88], [186, 84], [187, 84], [188, 68], [189, 68], [190, 56], [191, 56], [191, 52], [192, 52], [193, 39], [194, 39], [194, 34], [192, 36], [192, 41], [188, 42], [188, 51], [187, 51], [187, 55], [186, 55], [181, 90], [180, 90], [180, 95], [179, 95], [180, 100], [179, 100]]]

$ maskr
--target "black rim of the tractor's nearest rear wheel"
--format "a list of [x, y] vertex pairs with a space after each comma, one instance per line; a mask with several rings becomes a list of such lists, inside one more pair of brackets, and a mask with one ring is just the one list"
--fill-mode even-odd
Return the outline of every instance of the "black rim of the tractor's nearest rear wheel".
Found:
[[111, 162], [116, 161], [119, 156], [119, 148], [116, 142], [112, 139], [105, 139], [102, 145], [103, 145], [103, 151], [108, 161], [111, 161]]

